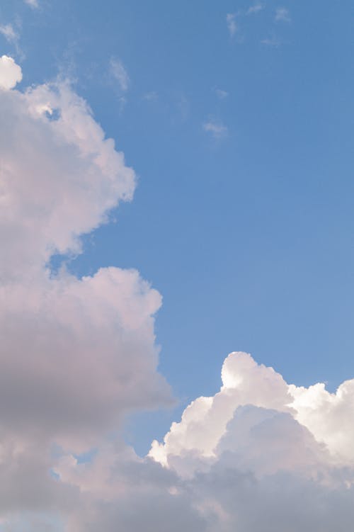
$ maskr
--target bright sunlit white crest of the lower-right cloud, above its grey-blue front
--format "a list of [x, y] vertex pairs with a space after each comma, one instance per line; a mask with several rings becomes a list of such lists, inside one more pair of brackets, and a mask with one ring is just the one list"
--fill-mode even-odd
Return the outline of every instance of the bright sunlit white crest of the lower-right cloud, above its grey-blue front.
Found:
[[236, 423], [235, 419], [244, 417], [240, 412], [247, 405], [280, 413], [281, 419], [292, 419], [294, 426], [301, 425], [311, 434], [316, 445], [326, 448], [333, 463], [354, 465], [354, 431], [350, 423], [354, 380], [343, 383], [336, 393], [328, 392], [321, 383], [309, 388], [288, 385], [273, 368], [258, 366], [247, 353], [231, 353], [227, 357], [217, 395], [193, 401], [181, 422], [171, 426], [164, 443], [154, 441], [150, 455], [163, 465], [174, 463], [174, 457], [178, 463], [181, 455], [188, 453], [200, 459], [215, 458], [218, 446], [232, 441], [228, 436], [230, 426]]

